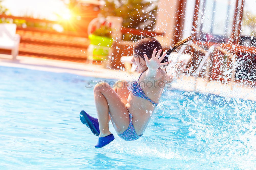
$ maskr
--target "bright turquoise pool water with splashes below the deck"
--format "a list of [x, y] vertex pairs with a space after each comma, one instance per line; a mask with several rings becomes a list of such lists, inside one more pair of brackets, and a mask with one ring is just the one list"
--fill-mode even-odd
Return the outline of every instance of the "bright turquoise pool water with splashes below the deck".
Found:
[[0, 169], [254, 169], [256, 104], [165, 89], [143, 137], [95, 149], [92, 79], [0, 67]]

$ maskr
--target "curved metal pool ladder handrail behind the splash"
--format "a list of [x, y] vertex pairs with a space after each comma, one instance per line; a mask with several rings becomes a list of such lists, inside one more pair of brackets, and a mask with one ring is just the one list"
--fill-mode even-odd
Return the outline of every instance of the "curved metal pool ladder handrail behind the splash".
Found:
[[[229, 56], [232, 59], [232, 64], [231, 64], [232, 68], [230, 69], [230, 71], [232, 71], [232, 73], [231, 73], [231, 80], [230, 80], [230, 82], [231, 82], [231, 90], [233, 90], [233, 81], [234, 81], [234, 78], [235, 78], [235, 71], [236, 71], [236, 65], [235, 65], [236, 57], [235, 57], [235, 55], [232, 55], [231, 53], [229, 53], [228, 51], [224, 50], [223, 48], [221, 48], [217, 44], [210, 46], [208, 51], [206, 51], [205, 49], [199, 47], [198, 45], [196, 45], [194, 43], [190, 44], [190, 46], [193, 47], [194, 49], [199, 50], [200, 52], [205, 54], [203, 60], [201, 61], [200, 65], [198, 66], [198, 68], [196, 69], [196, 72], [195, 72], [195, 88], [194, 88], [194, 90], [196, 91], [196, 89], [197, 89], [197, 78], [198, 78], [198, 75], [199, 75], [202, 67], [204, 66], [205, 62], [209, 58], [210, 54], [212, 52], [214, 52], [215, 49], [221, 51], [222, 53], [226, 54], [227, 56]], [[206, 77], [206, 80], [208, 81], [208, 77], [209, 77], [209, 62], [207, 62], [207, 65], [206, 65], [206, 76], [205, 77]]]

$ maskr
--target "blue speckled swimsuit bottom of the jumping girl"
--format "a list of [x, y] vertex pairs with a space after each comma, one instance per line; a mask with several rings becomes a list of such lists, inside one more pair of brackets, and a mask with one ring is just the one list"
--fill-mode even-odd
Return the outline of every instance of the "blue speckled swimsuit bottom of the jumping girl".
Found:
[[131, 141], [131, 140], [137, 140], [138, 138], [140, 138], [142, 135], [137, 135], [137, 133], [135, 132], [133, 123], [132, 123], [132, 114], [129, 113], [129, 117], [130, 117], [130, 124], [128, 126], [128, 128], [121, 134], [119, 134], [118, 136], [126, 141]]

